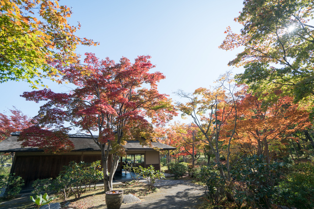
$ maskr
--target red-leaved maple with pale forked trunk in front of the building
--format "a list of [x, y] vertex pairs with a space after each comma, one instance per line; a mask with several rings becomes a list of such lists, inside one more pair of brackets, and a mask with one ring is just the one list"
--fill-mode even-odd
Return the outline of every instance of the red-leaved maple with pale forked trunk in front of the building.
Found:
[[[37, 126], [21, 133], [20, 140], [24, 146], [53, 152], [68, 151], [73, 149], [67, 138], [69, 131], [72, 127], [78, 128], [101, 150], [105, 191], [109, 191], [119, 156], [126, 154], [122, 147], [126, 140], [135, 137], [143, 145], [154, 140], [152, 124], [145, 117], [152, 123], [164, 123], [176, 112], [168, 95], [157, 90], [157, 82], [165, 76], [160, 72], [149, 73], [154, 68], [150, 56], [138, 56], [132, 64], [125, 57], [115, 63], [109, 58], [99, 60], [92, 53], [85, 55], [84, 65], [62, 69], [63, 78], [77, 86], [71, 92], [55, 93], [50, 89], [24, 92], [22, 97], [27, 100], [48, 102], [35, 117]], [[70, 125], [65, 126], [65, 122]], [[41, 130], [40, 126], [51, 130]], [[93, 131], [98, 132], [98, 137]], [[108, 162], [106, 150], [111, 150], [113, 157], [110, 174], [108, 163], [111, 162]]]

